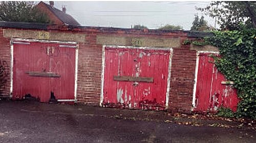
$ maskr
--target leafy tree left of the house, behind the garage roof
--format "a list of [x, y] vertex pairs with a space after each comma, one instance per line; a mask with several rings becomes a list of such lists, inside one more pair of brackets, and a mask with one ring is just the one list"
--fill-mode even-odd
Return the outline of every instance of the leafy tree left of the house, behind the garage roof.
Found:
[[1, 21], [50, 23], [48, 16], [35, 7], [33, 2], [1, 2]]

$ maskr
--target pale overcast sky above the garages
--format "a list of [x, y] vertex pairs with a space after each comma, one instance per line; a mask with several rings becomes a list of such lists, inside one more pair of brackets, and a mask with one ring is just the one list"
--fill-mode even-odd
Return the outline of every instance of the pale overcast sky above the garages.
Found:
[[[46, 2], [48, 3], [48, 2]], [[54, 7], [67, 8], [81, 25], [130, 28], [142, 24], [159, 28], [165, 24], [181, 25], [190, 30], [194, 15], [202, 15], [195, 7], [205, 7], [210, 2], [54, 2]], [[214, 26], [214, 19], [205, 16]]]

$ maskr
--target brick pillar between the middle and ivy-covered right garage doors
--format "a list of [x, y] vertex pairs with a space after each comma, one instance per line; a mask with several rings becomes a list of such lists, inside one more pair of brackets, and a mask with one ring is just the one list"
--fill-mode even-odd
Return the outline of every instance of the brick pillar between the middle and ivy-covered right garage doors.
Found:
[[196, 68], [196, 51], [189, 46], [175, 48], [170, 74], [169, 110], [190, 112]]

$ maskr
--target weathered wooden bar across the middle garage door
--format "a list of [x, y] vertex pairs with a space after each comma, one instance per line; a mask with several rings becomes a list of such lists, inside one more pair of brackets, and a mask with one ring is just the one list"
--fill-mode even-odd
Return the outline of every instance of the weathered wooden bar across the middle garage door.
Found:
[[114, 76], [116, 81], [153, 82], [153, 77]]

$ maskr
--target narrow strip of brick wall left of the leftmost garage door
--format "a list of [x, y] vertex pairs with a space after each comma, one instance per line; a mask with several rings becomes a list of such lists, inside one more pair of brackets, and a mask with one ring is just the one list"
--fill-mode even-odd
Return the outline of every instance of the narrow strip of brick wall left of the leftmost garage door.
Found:
[[10, 40], [3, 37], [3, 30], [0, 29], [0, 97], [10, 96], [10, 47]]

